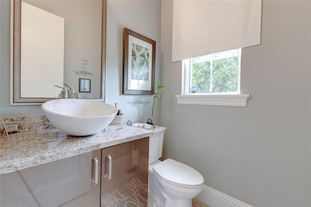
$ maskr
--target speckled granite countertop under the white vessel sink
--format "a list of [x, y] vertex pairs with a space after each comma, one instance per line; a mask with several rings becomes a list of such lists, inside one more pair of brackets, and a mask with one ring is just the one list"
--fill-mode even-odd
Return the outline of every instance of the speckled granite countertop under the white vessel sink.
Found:
[[[45, 123], [46, 124], [46, 123]], [[149, 137], [152, 131], [123, 124], [109, 125], [87, 137], [71, 137], [43, 127], [35, 138], [8, 139], [0, 133], [0, 174], [11, 173], [73, 155]]]

